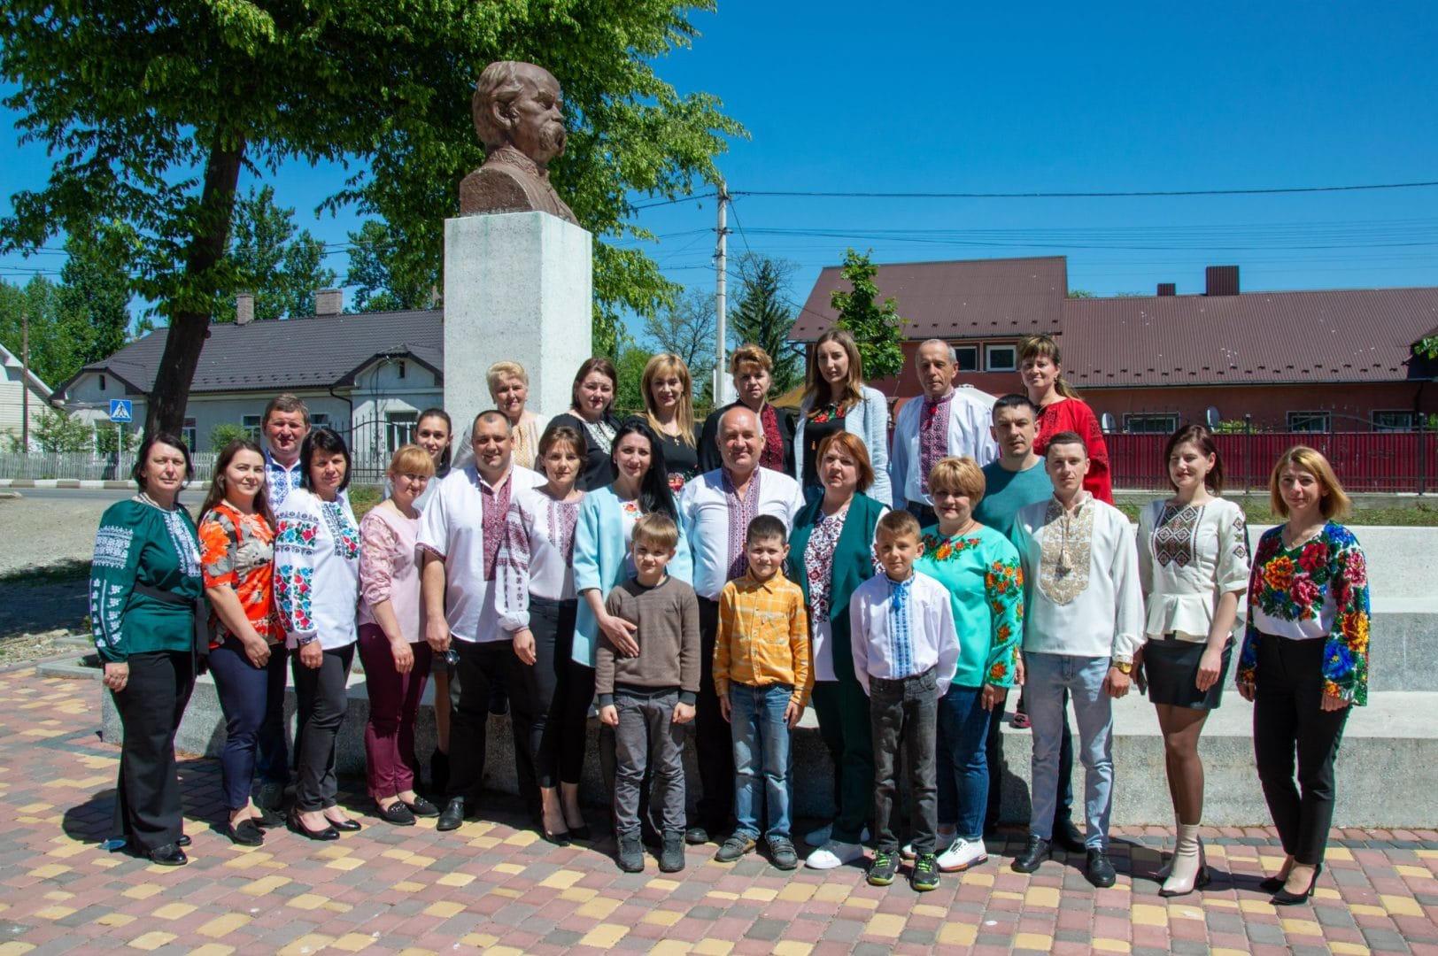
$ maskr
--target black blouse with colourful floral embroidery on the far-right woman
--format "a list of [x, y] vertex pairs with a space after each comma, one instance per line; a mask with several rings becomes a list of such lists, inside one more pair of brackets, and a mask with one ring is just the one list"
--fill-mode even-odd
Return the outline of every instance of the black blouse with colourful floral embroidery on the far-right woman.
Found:
[[1260, 641], [1322, 640], [1323, 689], [1368, 703], [1368, 561], [1357, 538], [1329, 522], [1314, 538], [1284, 548], [1283, 525], [1258, 539], [1248, 579], [1248, 630], [1238, 683], [1255, 683]]

